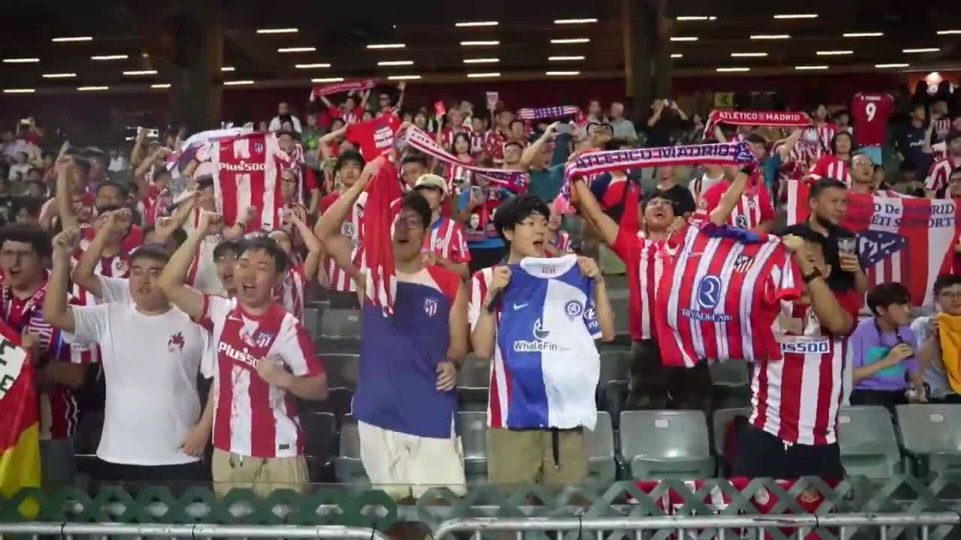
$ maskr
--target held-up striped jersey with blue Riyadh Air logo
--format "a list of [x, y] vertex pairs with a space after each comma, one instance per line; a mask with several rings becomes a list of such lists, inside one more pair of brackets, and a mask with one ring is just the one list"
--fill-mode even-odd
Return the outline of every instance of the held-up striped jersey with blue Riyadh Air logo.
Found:
[[780, 358], [771, 325], [800, 275], [776, 236], [692, 223], [655, 297], [664, 365]]

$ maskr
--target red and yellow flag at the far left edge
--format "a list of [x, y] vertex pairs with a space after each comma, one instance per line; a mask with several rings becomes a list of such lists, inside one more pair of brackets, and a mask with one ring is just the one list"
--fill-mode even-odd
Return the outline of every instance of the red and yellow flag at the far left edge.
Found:
[[[39, 431], [33, 360], [20, 349], [20, 336], [0, 322], [0, 497], [39, 487]], [[30, 500], [18, 509], [30, 518], [39, 510]]]

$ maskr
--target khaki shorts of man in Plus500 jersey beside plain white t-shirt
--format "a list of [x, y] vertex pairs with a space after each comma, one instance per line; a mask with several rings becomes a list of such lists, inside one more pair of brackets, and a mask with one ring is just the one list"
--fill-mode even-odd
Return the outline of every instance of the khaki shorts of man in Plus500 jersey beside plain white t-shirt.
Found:
[[251, 457], [213, 449], [213, 492], [218, 497], [234, 488], [253, 489], [266, 497], [278, 489], [307, 490], [309, 476], [303, 455]]

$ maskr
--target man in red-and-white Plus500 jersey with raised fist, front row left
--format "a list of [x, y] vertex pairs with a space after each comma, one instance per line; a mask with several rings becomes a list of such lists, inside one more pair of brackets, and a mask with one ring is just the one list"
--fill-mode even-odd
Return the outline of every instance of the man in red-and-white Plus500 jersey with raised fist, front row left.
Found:
[[208, 401], [208, 408], [215, 406], [214, 491], [223, 495], [243, 487], [266, 495], [276, 489], [303, 490], [308, 471], [294, 398], [327, 398], [324, 364], [308, 331], [274, 300], [289, 265], [276, 241], [255, 237], [242, 242], [234, 266], [234, 298], [205, 295], [185, 285], [193, 254], [222, 219], [202, 212], [199, 226], [160, 275], [167, 298], [209, 329], [216, 350]]

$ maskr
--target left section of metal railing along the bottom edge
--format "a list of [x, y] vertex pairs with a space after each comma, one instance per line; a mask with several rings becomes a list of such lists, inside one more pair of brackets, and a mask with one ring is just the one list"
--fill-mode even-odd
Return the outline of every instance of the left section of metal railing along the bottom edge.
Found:
[[126, 523], [0, 523], [0, 536], [71, 535], [166, 538], [331, 538], [389, 540], [373, 528], [295, 525], [126, 524]]

